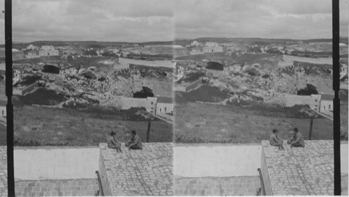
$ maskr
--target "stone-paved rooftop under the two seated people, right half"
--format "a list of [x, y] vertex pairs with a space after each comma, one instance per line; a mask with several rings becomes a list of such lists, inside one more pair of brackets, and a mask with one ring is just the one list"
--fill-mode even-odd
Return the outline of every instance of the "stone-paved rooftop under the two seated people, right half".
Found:
[[273, 195], [334, 195], [333, 141], [305, 141], [305, 148], [285, 145], [285, 150], [262, 141], [263, 153], [262, 171], [269, 174]]

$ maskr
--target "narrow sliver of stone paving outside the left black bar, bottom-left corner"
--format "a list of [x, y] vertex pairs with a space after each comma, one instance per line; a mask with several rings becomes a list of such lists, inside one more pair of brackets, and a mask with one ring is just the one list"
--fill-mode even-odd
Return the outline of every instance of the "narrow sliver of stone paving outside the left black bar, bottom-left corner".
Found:
[[7, 148], [0, 146], [0, 196], [7, 195]]

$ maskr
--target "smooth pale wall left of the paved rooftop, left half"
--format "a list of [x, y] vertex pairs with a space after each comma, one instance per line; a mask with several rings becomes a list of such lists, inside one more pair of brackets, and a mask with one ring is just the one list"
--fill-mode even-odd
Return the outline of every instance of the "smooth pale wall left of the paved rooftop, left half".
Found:
[[98, 147], [15, 147], [15, 178], [59, 180], [96, 178]]

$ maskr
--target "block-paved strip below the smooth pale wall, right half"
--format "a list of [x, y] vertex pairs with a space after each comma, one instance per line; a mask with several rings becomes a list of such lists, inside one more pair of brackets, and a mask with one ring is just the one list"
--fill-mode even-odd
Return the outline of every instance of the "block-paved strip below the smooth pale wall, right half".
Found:
[[175, 196], [255, 196], [259, 176], [183, 178], [176, 176]]

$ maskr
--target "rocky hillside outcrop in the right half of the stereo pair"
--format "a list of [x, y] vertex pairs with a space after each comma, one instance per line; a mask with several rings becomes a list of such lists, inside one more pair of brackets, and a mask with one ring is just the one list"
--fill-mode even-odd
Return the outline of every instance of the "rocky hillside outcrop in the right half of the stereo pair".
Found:
[[277, 65], [277, 61], [224, 64], [223, 71], [206, 69], [205, 75], [209, 78], [210, 86], [232, 94], [233, 98], [270, 104], [282, 104], [283, 95], [297, 94], [299, 75], [331, 77], [327, 69], [321, 66], [309, 68], [308, 64], [298, 63], [282, 67]]

